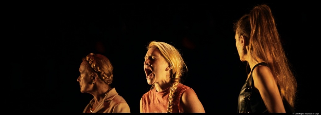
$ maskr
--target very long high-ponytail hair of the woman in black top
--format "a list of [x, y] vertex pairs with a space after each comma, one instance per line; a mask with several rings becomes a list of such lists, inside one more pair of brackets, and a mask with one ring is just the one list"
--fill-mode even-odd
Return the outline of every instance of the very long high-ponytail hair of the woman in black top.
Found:
[[235, 23], [234, 31], [247, 38], [249, 56], [258, 62], [267, 62], [279, 86], [281, 97], [294, 107], [297, 82], [282, 48], [270, 7], [266, 4], [255, 6], [249, 14]]

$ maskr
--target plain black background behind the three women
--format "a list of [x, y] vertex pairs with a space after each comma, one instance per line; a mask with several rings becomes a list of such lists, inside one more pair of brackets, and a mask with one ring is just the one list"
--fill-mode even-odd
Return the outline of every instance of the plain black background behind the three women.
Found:
[[233, 22], [261, 3], [272, 9], [297, 78], [296, 112], [318, 113], [320, 21], [318, 7], [309, 2], [12, 5], [4, 11], [10, 31], [3, 38], [9, 54], [3, 61], [10, 65], [4, 106], [13, 112], [81, 113], [92, 99], [76, 81], [81, 58], [100, 53], [114, 66], [113, 86], [138, 113], [150, 88], [145, 47], [158, 40], [181, 51], [189, 69], [183, 84], [195, 90], [205, 112], [236, 113], [247, 69], [239, 60]]

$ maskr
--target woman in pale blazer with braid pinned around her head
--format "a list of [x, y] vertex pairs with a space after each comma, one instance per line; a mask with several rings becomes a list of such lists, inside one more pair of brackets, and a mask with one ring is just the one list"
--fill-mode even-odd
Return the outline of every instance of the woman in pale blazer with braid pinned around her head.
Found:
[[100, 54], [90, 53], [82, 59], [77, 81], [82, 93], [94, 98], [83, 110], [84, 113], [129, 113], [125, 99], [111, 87], [113, 66], [109, 59]]

